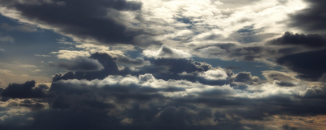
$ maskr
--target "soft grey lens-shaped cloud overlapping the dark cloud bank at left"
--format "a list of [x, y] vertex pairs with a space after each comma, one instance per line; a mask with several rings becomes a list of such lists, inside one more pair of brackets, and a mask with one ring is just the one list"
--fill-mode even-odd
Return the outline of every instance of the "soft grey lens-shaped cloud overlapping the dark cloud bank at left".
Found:
[[59, 63], [58, 66], [66, 70], [76, 71], [99, 71], [104, 69], [103, 65], [97, 60], [86, 57], [76, 57], [72, 61]]

